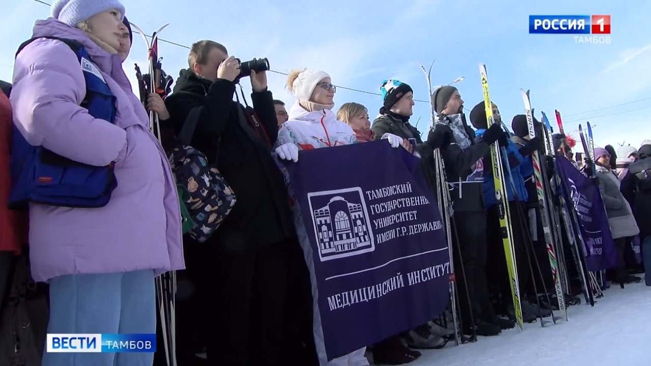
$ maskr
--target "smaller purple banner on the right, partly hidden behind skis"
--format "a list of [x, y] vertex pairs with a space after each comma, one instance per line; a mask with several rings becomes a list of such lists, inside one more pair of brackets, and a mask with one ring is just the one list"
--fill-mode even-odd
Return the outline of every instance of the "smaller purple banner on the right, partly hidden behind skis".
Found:
[[579, 218], [581, 237], [585, 243], [585, 262], [589, 271], [618, 266], [615, 242], [608, 225], [599, 187], [579, 172], [566, 158], [557, 158], [559, 175], [567, 188]]

